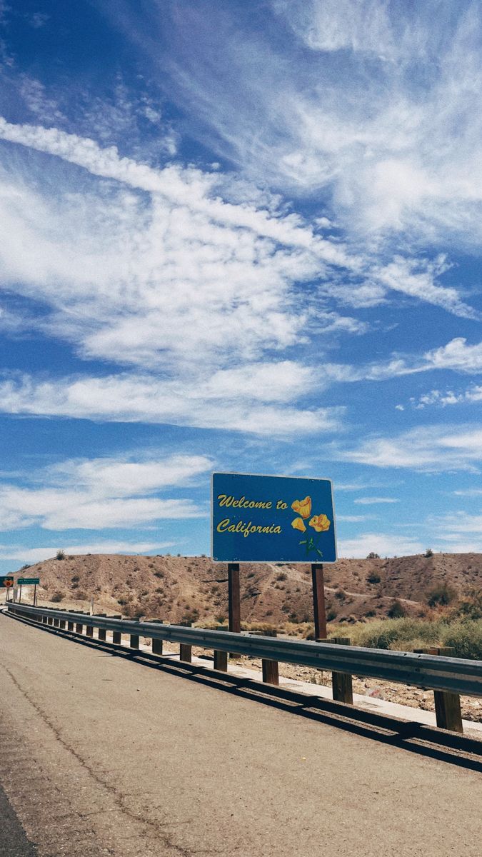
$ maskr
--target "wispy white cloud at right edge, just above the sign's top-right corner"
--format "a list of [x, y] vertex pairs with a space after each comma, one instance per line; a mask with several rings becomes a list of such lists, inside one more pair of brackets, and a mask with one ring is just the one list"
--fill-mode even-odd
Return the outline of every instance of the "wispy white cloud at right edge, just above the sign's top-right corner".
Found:
[[367, 438], [357, 449], [340, 451], [337, 457], [375, 467], [427, 472], [478, 470], [482, 462], [482, 430], [479, 426], [413, 428], [395, 437]]

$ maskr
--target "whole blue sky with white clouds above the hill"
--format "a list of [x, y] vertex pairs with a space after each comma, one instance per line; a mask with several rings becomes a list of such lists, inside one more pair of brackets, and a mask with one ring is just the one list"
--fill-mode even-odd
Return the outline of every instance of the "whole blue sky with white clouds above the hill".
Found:
[[208, 553], [212, 470], [482, 550], [481, 17], [0, 0], [1, 570]]

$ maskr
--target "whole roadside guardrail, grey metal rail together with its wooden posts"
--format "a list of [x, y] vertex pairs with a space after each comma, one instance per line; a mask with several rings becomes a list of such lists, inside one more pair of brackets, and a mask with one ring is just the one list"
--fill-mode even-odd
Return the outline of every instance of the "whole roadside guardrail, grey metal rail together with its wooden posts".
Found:
[[[352, 675], [395, 681], [431, 689], [436, 694], [437, 726], [462, 732], [460, 694], [482, 697], [482, 661], [447, 657], [446, 650], [421, 652], [366, 649], [347, 644], [346, 638], [310, 641], [286, 639], [229, 631], [210, 631], [182, 625], [167, 625], [161, 620], [132, 620], [103, 614], [87, 614], [56, 608], [31, 607], [9, 603], [8, 611], [75, 635], [98, 638], [104, 642], [112, 633], [112, 644], [122, 644], [122, 635], [130, 636], [130, 648], [139, 648], [141, 637], [152, 640], [153, 653], [162, 655], [164, 642], [181, 646], [181, 660], [189, 662], [192, 646], [214, 650], [214, 668], [226, 671], [228, 654], [261, 658], [264, 680], [278, 683], [277, 669], [271, 663], [293, 663], [332, 672], [334, 699], [352, 703]], [[85, 632], [84, 632], [85, 629]], [[339, 642], [343, 640], [343, 643]], [[265, 665], [266, 668], [265, 668]]]

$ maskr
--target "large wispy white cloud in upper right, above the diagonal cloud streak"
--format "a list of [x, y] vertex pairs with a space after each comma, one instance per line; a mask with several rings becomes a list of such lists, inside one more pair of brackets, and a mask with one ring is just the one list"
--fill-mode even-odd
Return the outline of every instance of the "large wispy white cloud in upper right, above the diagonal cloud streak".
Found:
[[[260, 183], [310, 198], [322, 189], [337, 223], [357, 234], [479, 246], [479, 4], [445, 4], [443, 14], [438, 0], [272, 5], [292, 41], [234, 20], [229, 4], [214, 32], [190, 5], [170, 20], [182, 36], [167, 60], [152, 37], [164, 18], [149, 16], [143, 58], [170, 75], [192, 133], [201, 125], [203, 142]], [[138, 16], [124, 19], [128, 37], [138, 27]]]

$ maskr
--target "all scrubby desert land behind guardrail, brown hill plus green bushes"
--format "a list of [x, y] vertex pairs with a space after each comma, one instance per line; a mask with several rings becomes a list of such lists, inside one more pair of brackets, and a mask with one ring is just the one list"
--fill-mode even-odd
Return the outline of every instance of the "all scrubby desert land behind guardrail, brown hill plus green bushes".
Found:
[[[40, 578], [39, 603], [87, 608], [93, 597], [102, 612], [207, 627], [227, 618], [226, 568], [206, 556], [67, 556], [59, 550], [29, 573]], [[325, 595], [330, 632], [353, 644], [450, 645], [459, 656], [482, 657], [482, 554], [427, 549], [385, 560], [374, 552], [366, 560], [339, 560], [325, 566]], [[243, 565], [241, 604], [244, 630], [314, 636], [307, 564]]]

